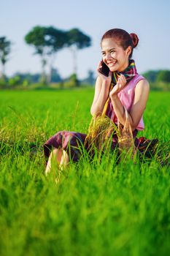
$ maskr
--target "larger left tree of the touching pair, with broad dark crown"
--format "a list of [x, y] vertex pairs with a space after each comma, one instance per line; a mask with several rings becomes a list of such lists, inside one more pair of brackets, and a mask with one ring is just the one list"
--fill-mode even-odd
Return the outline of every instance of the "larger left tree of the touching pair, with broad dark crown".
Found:
[[55, 53], [66, 45], [66, 33], [59, 29], [55, 29], [53, 26], [35, 26], [28, 34], [26, 34], [25, 40], [29, 45], [34, 46], [35, 54], [38, 54], [41, 57], [42, 82], [44, 83], [47, 82], [45, 67], [47, 65], [47, 59], [50, 57], [50, 75], [48, 77], [48, 82], [50, 82]]

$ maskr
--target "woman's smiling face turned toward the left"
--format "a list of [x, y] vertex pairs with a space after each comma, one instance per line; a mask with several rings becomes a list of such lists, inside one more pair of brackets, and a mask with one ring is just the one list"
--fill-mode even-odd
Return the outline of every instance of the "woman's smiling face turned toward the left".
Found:
[[101, 42], [102, 59], [109, 67], [110, 71], [123, 71], [128, 67], [128, 56], [131, 53], [131, 46], [123, 50], [120, 45], [117, 45], [114, 39], [103, 39]]

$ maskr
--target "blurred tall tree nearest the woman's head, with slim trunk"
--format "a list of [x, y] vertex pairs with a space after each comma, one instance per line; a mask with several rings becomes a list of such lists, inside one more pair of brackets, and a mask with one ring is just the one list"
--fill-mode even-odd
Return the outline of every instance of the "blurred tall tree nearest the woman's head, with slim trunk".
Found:
[[91, 39], [79, 29], [67, 31], [67, 46], [72, 50], [74, 74], [77, 74], [77, 50], [90, 47]]

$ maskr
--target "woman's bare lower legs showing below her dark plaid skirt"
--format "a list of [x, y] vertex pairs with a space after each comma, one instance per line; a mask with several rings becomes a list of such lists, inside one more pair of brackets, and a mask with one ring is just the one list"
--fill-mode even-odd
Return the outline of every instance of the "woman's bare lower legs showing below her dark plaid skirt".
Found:
[[63, 167], [66, 167], [66, 165], [68, 165], [68, 163], [69, 163], [69, 156], [66, 153], [66, 151], [64, 151], [63, 149], [55, 148], [51, 152], [50, 157], [49, 157], [48, 162], [47, 162], [47, 167], [45, 169], [45, 175], [46, 176], [47, 176], [48, 173], [50, 173], [51, 166], [52, 166], [53, 162], [56, 165], [56, 167], [63, 170]]

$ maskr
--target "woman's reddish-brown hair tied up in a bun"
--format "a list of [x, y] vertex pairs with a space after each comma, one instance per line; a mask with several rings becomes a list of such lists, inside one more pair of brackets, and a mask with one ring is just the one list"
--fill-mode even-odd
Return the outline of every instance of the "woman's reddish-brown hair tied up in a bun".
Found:
[[103, 37], [101, 38], [101, 42], [103, 39], [112, 38], [115, 39], [117, 45], [120, 45], [124, 50], [131, 46], [131, 54], [129, 55], [129, 59], [131, 59], [134, 48], [138, 45], [139, 38], [136, 34], [131, 33], [128, 34], [127, 31], [123, 29], [110, 29], [108, 30]]

